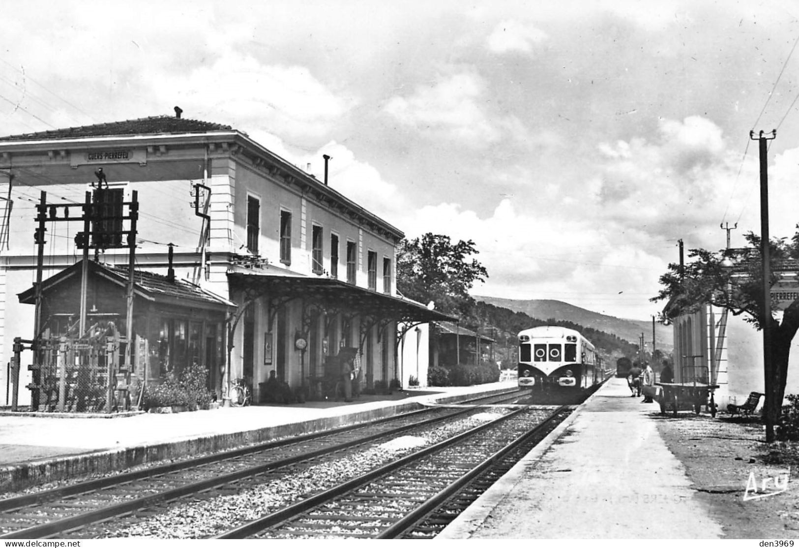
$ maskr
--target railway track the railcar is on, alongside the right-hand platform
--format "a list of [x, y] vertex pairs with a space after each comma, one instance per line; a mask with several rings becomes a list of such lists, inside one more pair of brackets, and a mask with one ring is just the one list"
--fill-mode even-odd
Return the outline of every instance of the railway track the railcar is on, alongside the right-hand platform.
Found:
[[513, 411], [214, 538], [432, 538], [570, 411]]

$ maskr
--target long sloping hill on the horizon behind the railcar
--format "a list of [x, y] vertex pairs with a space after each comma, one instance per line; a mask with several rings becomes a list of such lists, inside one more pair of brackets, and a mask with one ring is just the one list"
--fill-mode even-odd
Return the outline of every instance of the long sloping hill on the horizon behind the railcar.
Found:
[[[638, 344], [641, 332], [643, 332], [647, 347], [650, 347], [649, 345], [652, 343], [651, 320], [625, 320], [615, 316], [606, 316], [605, 314], [576, 307], [573, 304], [564, 303], [561, 300], [514, 300], [486, 296], [475, 296], [475, 300], [493, 304], [496, 307], [507, 308], [513, 312], [522, 312], [538, 320], [554, 318], [555, 320], [584, 325], [586, 328], [594, 328], [598, 331], [610, 333], [619, 339], [624, 339], [634, 344]], [[674, 349], [674, 335], [671, 331], [671, 326], [655, 324], [655, 345], [666, 353]]]

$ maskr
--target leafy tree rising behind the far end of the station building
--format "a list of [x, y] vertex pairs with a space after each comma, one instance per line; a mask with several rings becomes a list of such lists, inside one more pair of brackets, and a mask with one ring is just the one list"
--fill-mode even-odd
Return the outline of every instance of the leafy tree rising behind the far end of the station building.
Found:
[[467, 314], [474, 304], [469, 289], [488, 277], [483, 264], [470, 260], [478, 253], [472, 240], [452, 244], [449, 236], [432, 232], [402, 240], [397, 247], [397, 288], [420, 303], [434, 301], [442, 312]]

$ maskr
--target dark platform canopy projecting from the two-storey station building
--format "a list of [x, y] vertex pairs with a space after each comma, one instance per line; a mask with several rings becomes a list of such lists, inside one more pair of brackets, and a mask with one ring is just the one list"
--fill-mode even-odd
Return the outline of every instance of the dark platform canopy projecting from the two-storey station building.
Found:
[[[427, 323], [457, 321], [454, 316], [437, 312], [405, 299], [360, 288], [353, 284], [320, 276], [286, 275], [262, 272], [228, 272], [233, 292], [244, 293], [239, 311], [259, 298], [268, 300], [270, 308], [290, 300], [302, 299], [304, 306], [315, 306], [325, 312], [349, 312], [384, 321]], [[270, 312], [272, 313], [272, 312]]]

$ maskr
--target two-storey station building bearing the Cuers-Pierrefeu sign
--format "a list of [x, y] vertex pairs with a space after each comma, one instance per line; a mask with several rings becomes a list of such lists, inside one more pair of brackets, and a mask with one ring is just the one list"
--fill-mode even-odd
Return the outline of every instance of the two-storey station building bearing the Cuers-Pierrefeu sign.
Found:
[[[0, 138], [2, 384], [9, 381], [15, 337], [34, 340], [44, 329], [52, 334], [69, 326], [70, 311], [52, 301], [66, 299], [65, 288], [77, 291], [62, 272], [79, 270], [84, 223], [66, 216], [79, 216], [101, 189], [106, 214], [137, 199], [133, 326], [146, 326], [135, 333], [146, 344], [133, 354], [146, 348], [137, 359], [147, 372], [138, 367], [135, 375], [155, 382], [165, 371], [203, 363], [217, 396], [230, 379], [243, 378], [257, 401], [271, 371], [292, 388], [320, 389], [339, 349], [355, 347], [364, 388], [392, 379], [404, 386], [404, 335], [453, 318], [396, 292], [403, 232], [328, 185], [326, 163], [324, 178], [316, 177], [244, 132], [175, 112]], [[49, 288], [50, 305], [41, 307], [48, 317], [34, 334], [34, 232], [42, 200], [58, 208], [43, 221], [40, 287]], [[105, 219], [97, 223], [112, 222]], [[124, 292], [114, 291], [128, 276], [129, 258], [124, 241], [91, 250], [89, 260], [103, 266], [91, 269], [89, 279], [110, 289], [90, 282], [89, 324], [115, 314], [118, 331], [125, 331], [118, 302]], [[150, 308], [137, 304], [147, 298], [155, 303]], [[21, 403], [30, 361], [30, 353], [23, 355]]]

